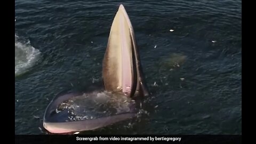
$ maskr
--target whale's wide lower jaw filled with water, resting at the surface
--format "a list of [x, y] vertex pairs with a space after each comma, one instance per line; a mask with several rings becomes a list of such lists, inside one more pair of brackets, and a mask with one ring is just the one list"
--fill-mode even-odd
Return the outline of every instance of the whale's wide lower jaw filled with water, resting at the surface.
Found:
[[58, 94], [46, 108], [44, 128], [50, 133], [94, 130], [137, 116], [134, 101], [122, 94]]

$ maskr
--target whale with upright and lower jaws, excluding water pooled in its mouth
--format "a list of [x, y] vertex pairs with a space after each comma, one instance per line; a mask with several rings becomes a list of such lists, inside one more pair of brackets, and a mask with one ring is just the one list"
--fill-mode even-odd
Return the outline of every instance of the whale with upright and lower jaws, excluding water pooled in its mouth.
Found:
[[[64, 101], [83, 94], [93, 95], [93, 93], [102, 91], [122, 93], [135, 102], [129, 103], [129, 111], [124, 113], [78, 121], [68, 121], [67, 109], [59, 113], [56, 111]], [[134, 30], [121, 4], [110, 28], [108, 44], [102, 60], [101, 82], [90, 84], [81, 92], [68, 91], [55, 95], [45, 110], [43, 127], [50, 133], [74, 133], [99, 129], [136, 117], [136, 102], [148, 95], [149, 91], [143, 76]]]

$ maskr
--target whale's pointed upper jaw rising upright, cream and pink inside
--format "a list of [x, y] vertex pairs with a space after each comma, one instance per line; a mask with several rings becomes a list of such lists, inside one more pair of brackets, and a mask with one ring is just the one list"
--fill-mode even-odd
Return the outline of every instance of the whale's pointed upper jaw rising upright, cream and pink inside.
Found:
[[107, 91], [147, 95], [143, 82], [134, 31], [121, 4], [112, 23], [107, 50], [103, 59], [102, 77]]

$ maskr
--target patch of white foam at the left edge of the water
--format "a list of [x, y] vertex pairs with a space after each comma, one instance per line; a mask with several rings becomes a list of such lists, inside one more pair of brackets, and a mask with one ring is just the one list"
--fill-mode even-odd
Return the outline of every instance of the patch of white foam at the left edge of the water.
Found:
[[15, 76], [25, 73], [33, 67], [40, 57], [39, 50], [30, 45], [30, 42], [19, 42], [15, 35]]

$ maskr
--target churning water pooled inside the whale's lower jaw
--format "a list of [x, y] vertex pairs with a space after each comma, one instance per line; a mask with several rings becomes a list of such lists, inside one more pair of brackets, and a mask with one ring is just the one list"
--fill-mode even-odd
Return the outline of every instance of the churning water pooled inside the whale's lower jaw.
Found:
[[62, 102], [56, 113], [67, 110], [68, 121], [81, 121], [135, 112], [135, 101], [123, 93], [107, 91], [83, 93]]

